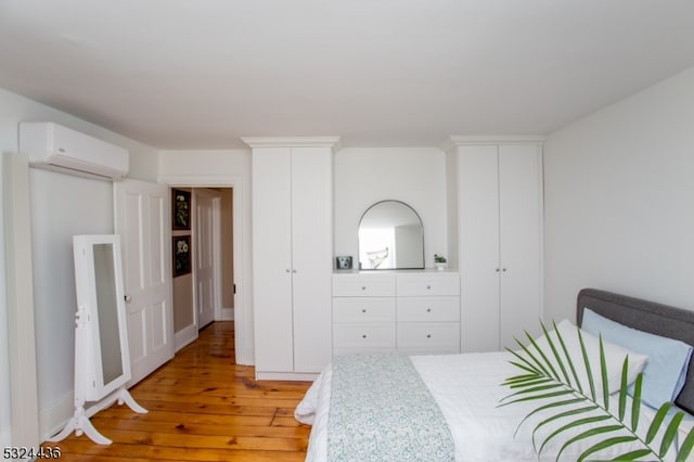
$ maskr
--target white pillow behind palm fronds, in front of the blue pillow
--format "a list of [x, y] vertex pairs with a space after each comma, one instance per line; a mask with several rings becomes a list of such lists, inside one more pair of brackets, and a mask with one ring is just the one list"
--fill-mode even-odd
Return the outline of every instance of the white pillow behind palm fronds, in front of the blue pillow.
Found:
[[[576, 369], [576, 373], [583, 389], [583, 394], [590, 396], [590, 382], [588, 380], [586, 362], [583, 361], [583, 354], [581, 352], [581, 346], [578, 339], [578, 329], [569, 320], [565, 319], [556, 325], [556, 330], [562, 335], [562, 339], [566, 345], [566, 350], [571, 358], [571, 362], [574, 363], [574, 368]], [[549, 331], [549, 335], [555, 348], [560, 352], [560, 357], [566, 364], [564, 352], [562, 350], [556, 332], [554, 330]], [[581, 331], [581, 337], [583, 338], [586, 354], [588, 355], [588, 360], [590, 362], [591, 375], [593, 377], [593, 384], [595, 386], [595, 396], [601, 396], [603, 393], [603, 382], [600, 368], [600, 339], [599, 337], [595, 337], [594, 335], [591, 335], [584, 331]], [[552, 349], [550, 348], [545, 336], [541, 335], [536, 339], [536, 343], [538, 344], [542, 352], [544, 352], [544, 355], [548, 357], [552, 365], [554, 365], [554, 369], [560, 374], [562, 381], [564, 381], [564, 376], [558, 368], [556, 358], [554, 358], [554, 354], [552, 352]], [[536, 357], [538, 356], [537, 350], [531, 345], [528, 345], [527, 348], [534, 355], [536, 355]], [[618, 345], [614, 345], [604, 341], [603, 348], [605, 350], [605, 364], [607, 369], [607, 389], [611, 394], [618, 392], [619, 387], [621, 386], [621, 367], [624, 364], [625, 357], [629, 356], [627, 384], [631, 384], [637, 380], [637, 375], [643, 370], [646, 359], [648, 358], [645, 355], [631, 351], [627, 348], [622, 348]], [[570, 370], [567, 369], [567, 373], [569, 374], [571, 383], [574, 383], [575, 378]]]

